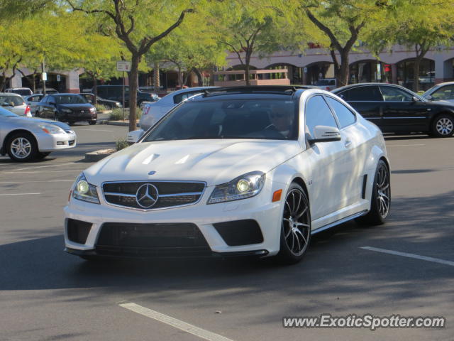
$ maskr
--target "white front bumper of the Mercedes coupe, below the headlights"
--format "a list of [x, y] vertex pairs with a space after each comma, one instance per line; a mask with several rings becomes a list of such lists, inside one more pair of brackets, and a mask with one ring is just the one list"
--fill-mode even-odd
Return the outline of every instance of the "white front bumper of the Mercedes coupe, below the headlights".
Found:
[[[100, 205], [83, 202], [71, 198], [65, 207], [65, 250], [71, 254], [78, 255], [102, 255], [116, 256], [121, 247], [105, 247], [99, 242], [103, 224], [109, 228], [114, 224], [124, 224], [128, 228], [138, 228], [145, 225], [159, 224], [194, 224], [198, 232], [203, 235], [206, 247], [197, 245], [195, 249], [190, 248], [168, 248], [155, 249], [154, 247], [143, 248], [140, 252], [127, 249], [120, 253], [121, 258], [135, 257], [148, 258], [155, 256], [272, 256], [279, 251], [282, 202], [271, 202], [272, 189], [270, 184], [265, 184], [262, 192], [249, 199], [233, 202], [224, 202], [213, 205], [206, 205], [209, 196], [214, 188], [206, 188], [204, 195], [198, 203], [186, 207], [175, 207], [155, 211], [131, 210], [122, 207], [114, 207], [104, 201], [98, 188]], [[83, 239], [84, 242], [74, 242], [68, 237], [68, 220], [79, 220], [89, 223], [89, 231]], [[225, 227], [226, 222], [254, 221], [260, 227], [260, 239], [248, 239], [253, 244], [241, 244], [235, 242], [230, 235], [226, 238], [225, 229], [222, 231], [219, 226]], [[131, 226], [130, 226], [131, 225]], [[227, 224], [228, 225], [228, 224]], [[236, 228], [240, 227], [237, 226]], [[151, 227], [153, 228], [153, 227]], [[235, 233], [235, 229], [231, 230]], [[238, 231], [238, 229], [236, 229]], [[198, 233], [197, 232], [197, 233]], [[123, 232], [121, 232], [123, 233]], [[233, 241], [233, 242], [232, 242]], [[100, 243], [100, 244], [99, 244]], [[164, 251], [164, 252], [162, 252]], [[200, 252], [198, 252], [200, 251]]]

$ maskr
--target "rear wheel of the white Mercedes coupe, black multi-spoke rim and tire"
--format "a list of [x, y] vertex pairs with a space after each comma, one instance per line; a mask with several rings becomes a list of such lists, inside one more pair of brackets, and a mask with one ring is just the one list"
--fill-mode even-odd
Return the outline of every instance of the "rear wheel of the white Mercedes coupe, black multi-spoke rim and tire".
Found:
[[370, 211], [356, 219], [360, 224], [381, 225], [384, 224], [389, 215], [391, 207], [391, 181], [389, 169], [383, 160], [378, 161], [377, 170], [375, 171], [374, 187], [372, 188], [372, 197], [370, 202]]

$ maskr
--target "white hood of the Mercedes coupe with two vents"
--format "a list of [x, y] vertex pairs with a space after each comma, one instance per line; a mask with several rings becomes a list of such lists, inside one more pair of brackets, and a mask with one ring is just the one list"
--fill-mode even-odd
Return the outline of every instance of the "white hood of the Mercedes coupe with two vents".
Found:
[[93, 185], [121, 180], [198, 180], [218, 185], [251, 171], [267, 173], [297, 153], [301, 153], [297, 141], [154, 141], [118, 151], [84, 174]]

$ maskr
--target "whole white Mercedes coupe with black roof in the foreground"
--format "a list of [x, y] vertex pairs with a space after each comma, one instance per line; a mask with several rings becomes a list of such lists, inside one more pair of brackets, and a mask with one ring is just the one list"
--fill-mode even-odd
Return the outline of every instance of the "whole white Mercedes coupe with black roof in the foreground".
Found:
[[81, 173], [65, 251], [84, 259], [306, 254], [311, 235], [389, 213], [380, 129], [313, 88], [213, 88]]

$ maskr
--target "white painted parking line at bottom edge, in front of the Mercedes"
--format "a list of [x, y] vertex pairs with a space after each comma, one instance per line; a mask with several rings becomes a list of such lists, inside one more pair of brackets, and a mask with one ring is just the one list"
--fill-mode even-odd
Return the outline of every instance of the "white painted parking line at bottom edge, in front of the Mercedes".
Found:
[[218, 335], [214, 332], [209, 332], [208, 330], [204, 330], [202, 328], [196, 327], [195, 325], [191, 325], [189, 323], [185, 323], [182, 320], [177, 320], [176, 318], [172, 318], [168, 315], [164, 315], [162, 313], [158, 313], [155, 310], [151, 310], [148, 308], [144, 308], [141, 305], [135, 303], [123, 303], [119, 304], [122, 308], [126, 308], [128, 310], [133, 311], [134, 313], [138, 313], [140, 315], [146, 316], [147, 318], [153, 318], [153, 320], [157, 320], [159, 322], [165, 323], [166, 325], [171, 325], [179, 330], [183, 330], [184, 332], [189, 332], [192, 335], [196, 335], [204, 340], [209, 341], [232, 341], [227, 337], [223, 337], [222, 335]]

